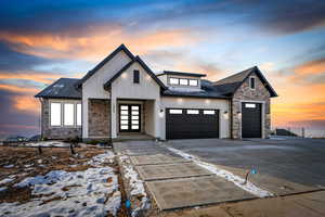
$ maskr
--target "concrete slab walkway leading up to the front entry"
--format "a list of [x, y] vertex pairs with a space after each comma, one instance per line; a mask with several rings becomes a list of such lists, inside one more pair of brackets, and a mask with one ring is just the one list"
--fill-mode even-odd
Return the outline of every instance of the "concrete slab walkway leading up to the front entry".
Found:
[[160, 210], [256, 197], [153, 141], [118, 142], [114, 149], [130, 156]]

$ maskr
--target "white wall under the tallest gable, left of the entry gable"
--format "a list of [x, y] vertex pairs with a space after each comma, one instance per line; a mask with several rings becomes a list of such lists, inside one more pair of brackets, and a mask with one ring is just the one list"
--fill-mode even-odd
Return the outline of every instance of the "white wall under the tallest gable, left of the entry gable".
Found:
[[103, 85], [130, 61], [120, 51], [82, 84], [82, 138], [88, 138], [88, 99], [109, 99], [109, 92], [104, 90]]

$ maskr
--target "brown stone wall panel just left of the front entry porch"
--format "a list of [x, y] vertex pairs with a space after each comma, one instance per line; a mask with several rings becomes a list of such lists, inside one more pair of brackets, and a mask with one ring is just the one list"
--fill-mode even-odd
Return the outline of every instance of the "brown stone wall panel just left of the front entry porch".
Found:
[[89, 99], [88, 136], [89, 138], [109, 138], [110, 101]]

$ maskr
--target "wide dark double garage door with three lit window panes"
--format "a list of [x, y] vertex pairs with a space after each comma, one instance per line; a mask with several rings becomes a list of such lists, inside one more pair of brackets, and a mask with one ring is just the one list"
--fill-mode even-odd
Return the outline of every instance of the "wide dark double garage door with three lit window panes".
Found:
[[219, 138], [219, 110], [167, 108], [166, 138]]

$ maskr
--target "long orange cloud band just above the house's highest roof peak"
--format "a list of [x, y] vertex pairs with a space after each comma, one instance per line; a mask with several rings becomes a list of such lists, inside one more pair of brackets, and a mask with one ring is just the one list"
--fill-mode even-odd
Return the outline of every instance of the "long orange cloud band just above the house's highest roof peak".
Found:
[[[91, 34], [89, 34], [91, 33]], [[108, 27], [93, 27], [88, 34], [79, 36], [69, 35], [17, 35], [0, 31], [0, 39], [13, 44], [12, 49], [49, 59], [86, 59], [99, 61], [107, 55], [121, 42], [139, 54], [157, 47], [188, 46], [202, 39], [195, 31], [190, 29], [159, 30], [136, 35], [127, 33], [121, 27], [113, 29]]]

